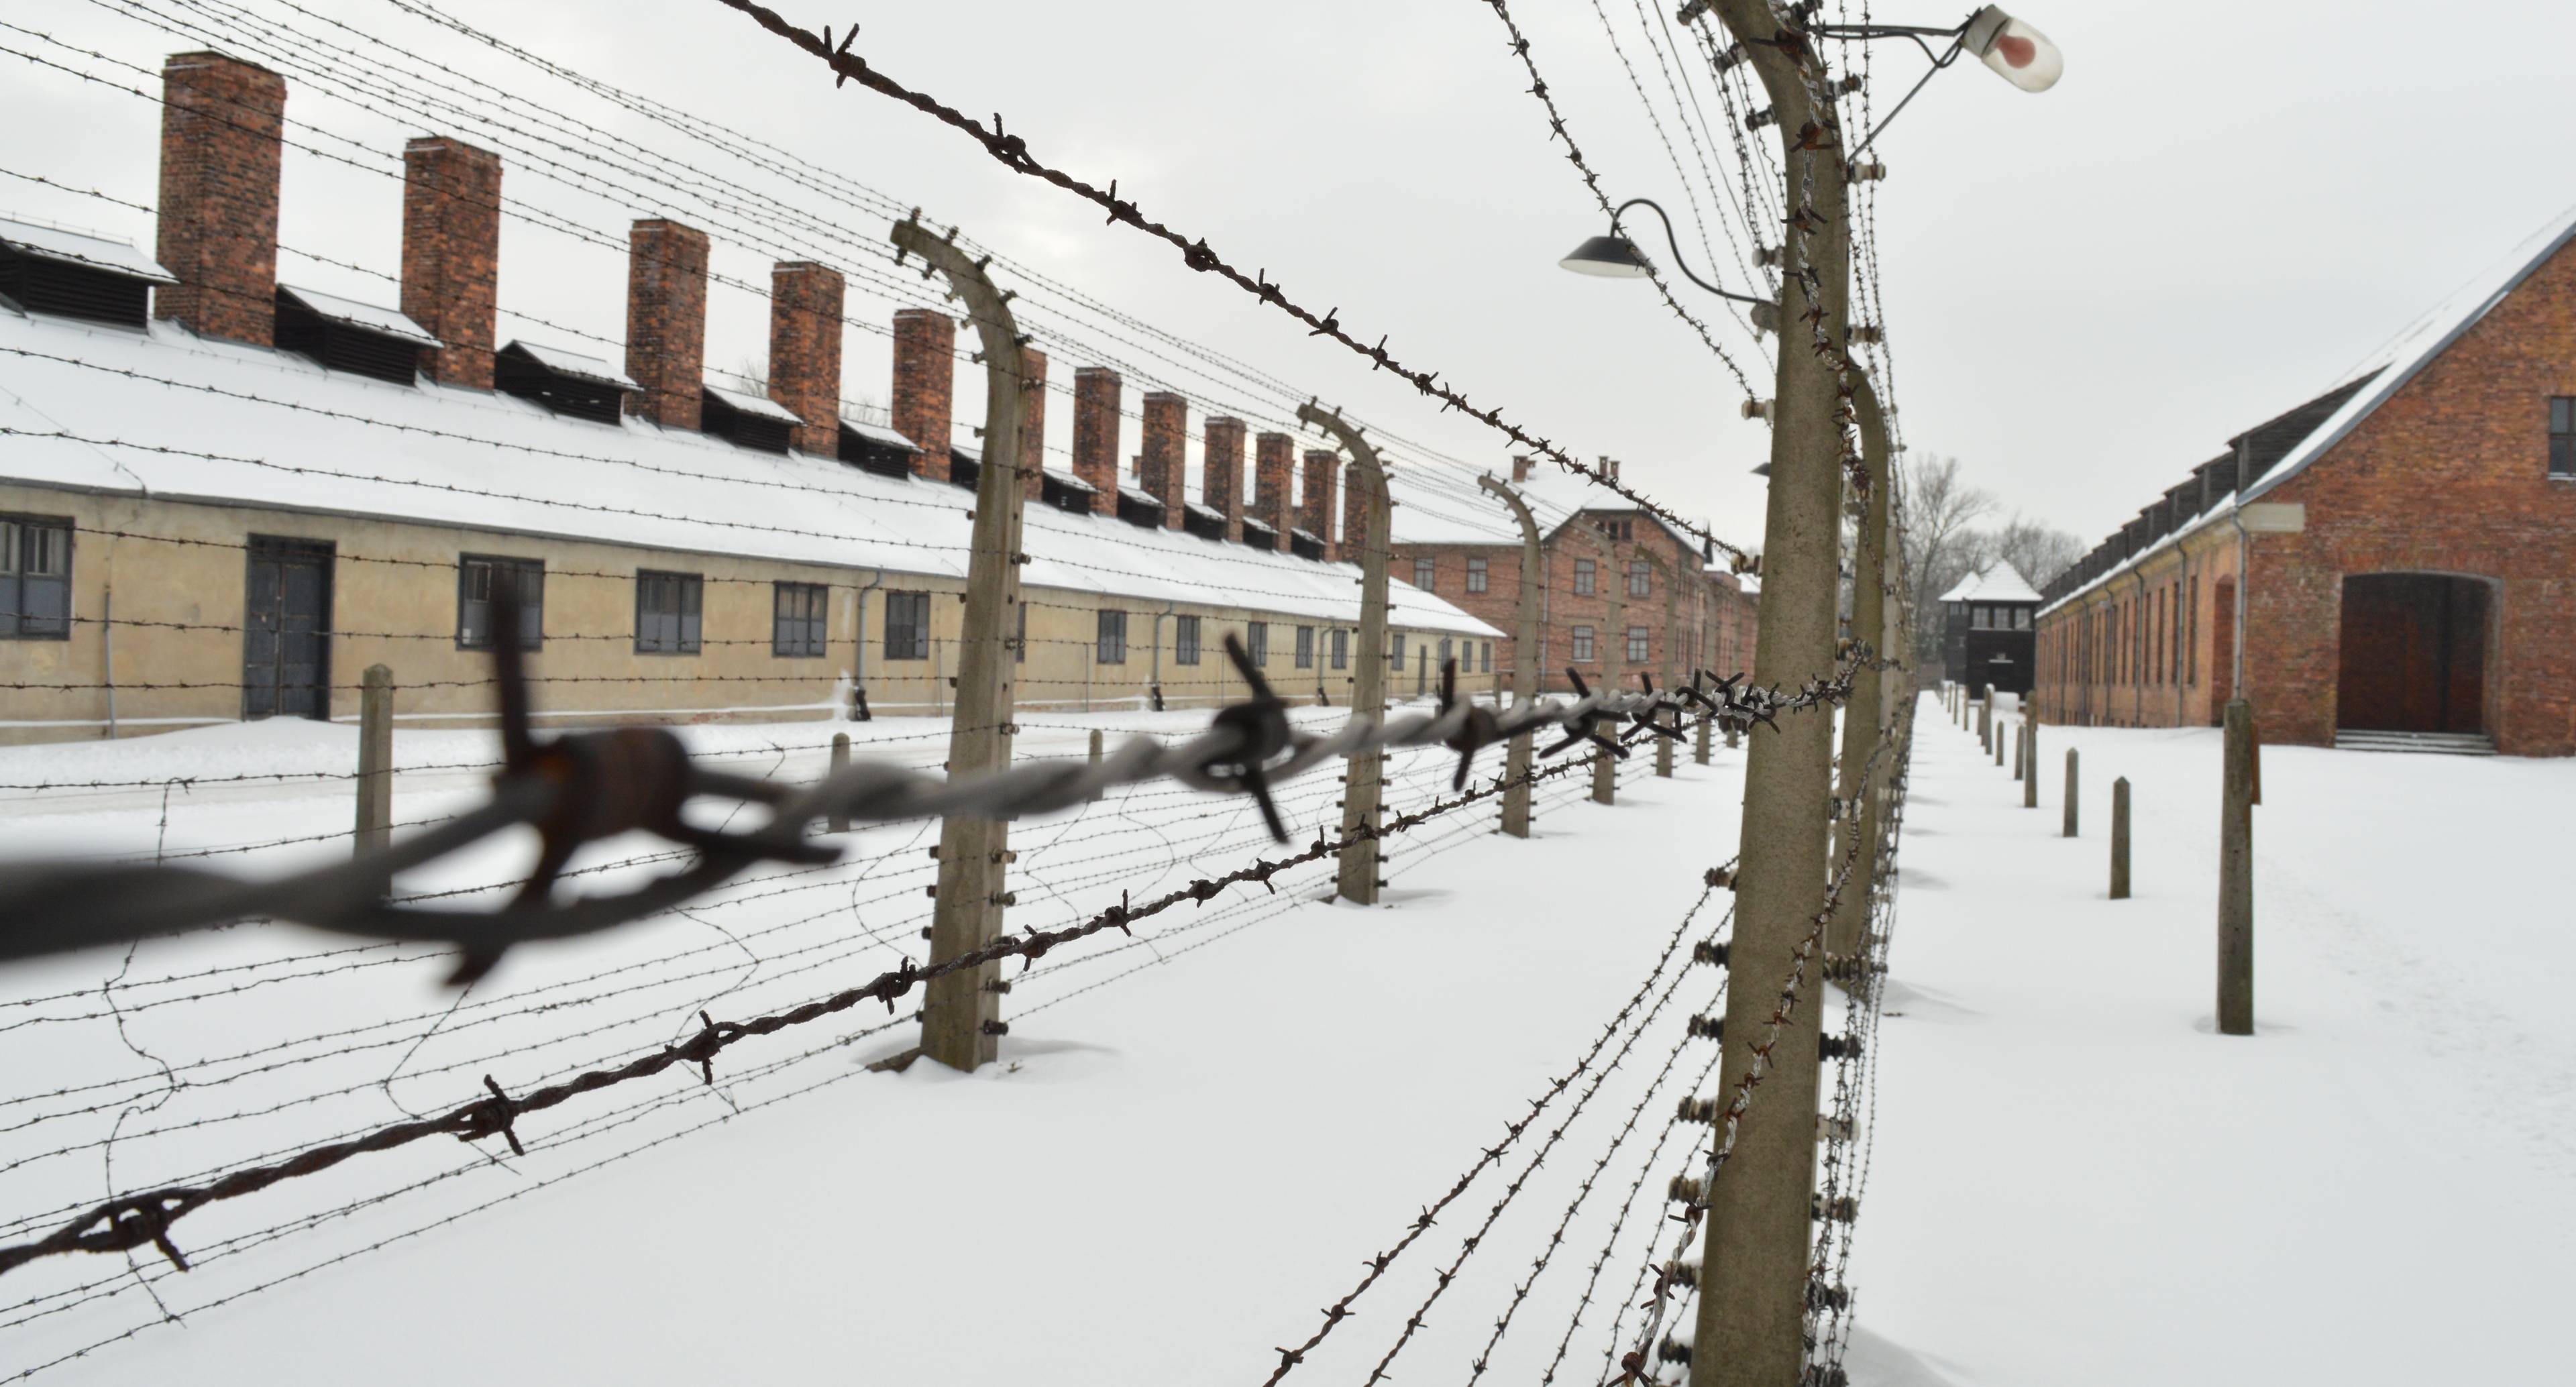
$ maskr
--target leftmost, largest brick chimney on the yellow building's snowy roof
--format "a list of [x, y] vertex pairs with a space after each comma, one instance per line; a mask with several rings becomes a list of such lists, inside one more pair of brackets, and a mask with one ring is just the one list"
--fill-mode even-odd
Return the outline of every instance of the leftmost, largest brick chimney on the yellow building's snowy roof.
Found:
[[224, 54], [162, 62], [155, 257], [178, 275], [152, 311], [206, 337], [278, 335], [278, 129], [286, 77]]

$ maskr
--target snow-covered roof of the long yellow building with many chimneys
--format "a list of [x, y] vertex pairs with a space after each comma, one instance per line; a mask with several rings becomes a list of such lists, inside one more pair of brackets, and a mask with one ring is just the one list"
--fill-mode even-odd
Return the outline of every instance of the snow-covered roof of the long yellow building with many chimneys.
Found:
[[[33, 486], [966, 576], [958, 517], [974, 494], [958, 486], [510, 394], [327, 373], [170, 322], [131, 332], [0, 314], [0, 481]], [[1036, 504], [1025, 548], [1020, 576], [1036, 587], [1360, 615], [1352, 564]], [[1388, 594], [1399, 625], [1499, 636], [1412, 584]]]

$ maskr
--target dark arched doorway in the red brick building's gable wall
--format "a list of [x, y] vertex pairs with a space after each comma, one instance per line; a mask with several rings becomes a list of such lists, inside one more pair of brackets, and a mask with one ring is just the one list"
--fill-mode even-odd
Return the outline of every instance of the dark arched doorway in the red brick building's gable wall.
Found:
[[2447, 574], [2344, 576], [2334, 726], [2486, 731], [2488, 584]]

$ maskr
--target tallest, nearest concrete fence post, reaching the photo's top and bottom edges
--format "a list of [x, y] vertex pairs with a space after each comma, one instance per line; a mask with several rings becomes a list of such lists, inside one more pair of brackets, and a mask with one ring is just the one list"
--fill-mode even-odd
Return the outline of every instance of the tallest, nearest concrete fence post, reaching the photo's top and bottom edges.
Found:
[[[1780, 252], [1780, 324], [1770, 489], [1762, 528], [1762, 612], [1752, 682], [1795, 690], [1834, 677], [1842, 587], [1842, 417], [1860, 376], [1850, 360], [1850, 221], [1842, 113], [1819, 95], [1826, 75], [1803, 28], [1770, 0], [1713, 0], [1744, 46], [1783, 131], [1790, 226]], [[1783, 26], [1793, 26], [1783, 36]], [[1793, 340], [1790, 340], [1793, 337]], [[1749, 1076], [1762, 1088], [1734, 1127], [1734, 1150], [1703, 1191], [1698, 1328], [1690, 1387], [1788, 1387], [1806, 1372], [1808, 1251], [1816, 1194], [1826, 800], [1834, 721], [1780, 718], [1752, 736], [1736, 867], [1718, 1094]], [[1801, 978], [1775, 1029], [1780, 988]], [[1754, 1047], [1762, 1050], [1754, 1050]]]

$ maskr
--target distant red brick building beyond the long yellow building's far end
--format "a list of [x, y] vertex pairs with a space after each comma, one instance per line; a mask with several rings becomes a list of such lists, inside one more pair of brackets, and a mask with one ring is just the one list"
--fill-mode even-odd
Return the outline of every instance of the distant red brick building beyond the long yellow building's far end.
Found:
[[[1754, 594], [1710, 561], [1703, 540], [1592, 481], [1533, 468], [1530, 458], [1512, 458], [1512, 489], [1540, 533], [1540, 692], [1571, 692], [1569, 666], [1592, 687], [1633, 684], [1638, 672], [1662, 682], [1669, 672], [1752, 669]], [[1394, 556], [1396, 579], [1502, 628], [1494, 672], [1497, 687], [1507, 684], [1520, 661], [1522, 533], [1504, 502], [1455, 489], [1409, 494], [1399, 476]], [[1417, 674], [1401, 677], [1399, 692]]]

